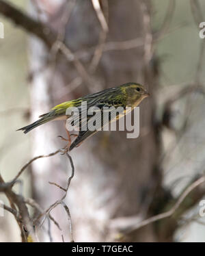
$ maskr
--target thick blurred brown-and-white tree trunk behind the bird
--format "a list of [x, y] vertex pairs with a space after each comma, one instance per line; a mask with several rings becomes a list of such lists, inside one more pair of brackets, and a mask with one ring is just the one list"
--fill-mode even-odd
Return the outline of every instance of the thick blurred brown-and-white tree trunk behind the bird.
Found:
[[[123, 224], [120, 222], [122, 217], [138, 216], [140, 220], [156, 214], [155, 207], [152, 209], [151, 203], [154, 200], [154, 193], [161, 190], [161, 171], [158, 166], [160, 143], [153, 121], [154, 88], [158, 77], [150, 47], [152, 44], [148, 20], [150, 1], [112, 0], [101, 1], [101, 4], [109, 25], [108, 42], [143, 38], [145, 43], [141, 47], [124, 51], [105, 51], [95, 73], [89, 69], [92, 56], [85, 56], [81, 61], [87, 73], [92, 76], [92, 81], [83, 80], [83, 84], [70, 94], [64, 92], [70, 81], [78, 77], [79, 73], [72, 62], [68, 63], [59, 56], [54, 75], [51, 71], [48, 79], [45, 73], [44, 77], [37, 75], [36, 80], [33, 79], [31, 94], [33, 111], [36, 112], [38, 105], [40, 107], [38, 114], [43, 114], [55, 103], [128, 81], [144, 84], [152, 96], [140, 105], [139, 138], [126, 139], [126, 132], [122, 131], [99, 132], [72, 151], [76, 172], [68, 192], [68, 206], [72, 216], [75, 241], [96, 242], [114, 239], [112, 232], [116, 225]], [[61, 15], [55, 16], [51, 21], [55, 28], [59, 28]], [[73, 52], [94, 47], [98, 44], [101, 30], [92, 2], [77, 1], [66, 27], [66, 44]], [[36, 57], [37, 49], [33, 48], [32, 51], [33, 56]], [[44, 50], [41, 53], [45, 55]], [[43, 104], [38, 104], [39, 99], [42, 99]], [[61, 128], [56, 129], [57, 125], [51, 123], [33, 131], [35, 134], [33, 148], [38, 149], [35, 150], [35, 155], [45, 153], [42, 150], [45, 145], [46, 153], [61, 146], [56, 136], [64, 135], [63, 125], [60, 123], [58, 125]], [[36, 179], [34, 191], [43, 207], [49, 206], [61, 194], [58, 188], [47, 186], [45, 183], [54, 181], [64, 186], [66, 176], [60, 170], [68, 168], [65, 160], [64, 157], [53, 157], [42, 159], [41, 162], [33, 165], [33, 176]], [[44, 195], [43, 199], [42, 195]], [[60, 211], [58, 208], [55, 211], [57, 220], [61, 219]], [[67, 232], [66, 215], [65, 220], [60, 222]], [[57, 234], [55, 241], [61, 240], [60, 233], [55, 232]], [[139, 233], [132, 233], [132, 236], [125, 240], [152, 242], [157, 241], [158, 237], [154, 226], [149, 225], [140, 229]]]

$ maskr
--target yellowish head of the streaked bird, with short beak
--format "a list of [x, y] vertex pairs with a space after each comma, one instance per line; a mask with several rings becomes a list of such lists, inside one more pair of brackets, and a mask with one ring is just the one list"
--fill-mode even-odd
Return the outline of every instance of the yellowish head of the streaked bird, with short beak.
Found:
[[126, 106], [128, 107], [137, 107], [143, 99], [150, 96], [147, 90], [137, 83], [124, 84], [121, 90], [126, 94]]

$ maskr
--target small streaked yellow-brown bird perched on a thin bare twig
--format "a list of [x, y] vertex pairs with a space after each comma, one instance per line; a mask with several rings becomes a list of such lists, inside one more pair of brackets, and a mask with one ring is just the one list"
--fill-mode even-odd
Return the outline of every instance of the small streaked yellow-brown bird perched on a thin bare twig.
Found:
[[[27, 125], [23, 128], [18, 129], [17, 131], [22, 130], [24, 133], [28, 133], [32, 129], [38, 127], [39, 125], [42, 125], [44, 123], [48, 123], [51, 120], [68, 120], [71, 116], [66, 115], [66, 110], [68, 107], [78, 107], [79, 109], [79, 116], [82, 116], [82, 107], [81, 103], [86, 102], [87, 103], [87, 110], [90, 107], [98, 107], [99, 110], [102, 110], [103, 107], [123, 107], [125, 110], [126, 107], [131, 107], [131, 110], [133, 110], [134, 107], [137, 107], [139, 103], [146, 97], [148, 97], [150, 94], [146, 91], [146, 89], [141, 85], [137, 83], [127, 83], [122, 84], [121, 86], [116, 86], [114, 88], [108, 88], [106, 90], [102, 90], [101, 92], [96, 92], [94, 94], [89, 94], [85, 97], [81, 97], [79, 99], [74, 99], [72, 101], [66, 101], [64, 103], [61, 103], [51, 109], [50, 112], [46, 114], [42, 114], [39, 120], [32, 123], [31, 125]], [[103, 113], [101, 113], [103, 115]], [[126, 112], [119, 113], [118, 116], [115, 116], [115, 120], [121, 118], [124, 116]], [[92, 116], [87, 115], [87, 120], [89, 120]], [[110, 123], [113, 120], [113, 116], [109, 116], [108, 123]], [[86, 120], [86, 121], [87, 121]], [[84, 123], [85, 120], [83, 118], [80, 118], [79, 123], [80, 127]], [[102, 122], [100, 120], [99, 122]], [[105, 127], [107, 123], [99, 123], [98, 127]], [[67, 131], [67, 130], [66, 130]], [[79, 134], [77, 138], [72, 142], [70, 140], [70, 133], [68, 133], [68, 146], [66, 146], [67, 151], [71, 151], [74, 149], [74, 147], [79, 146], [86, 138], [92, 136], [94, 133], [96, 133], [98, 130], [90, 131], [90, 130], [81, 130], [79, 129]], [[59, 136], [61, 137], [61, 136]], [[63, 140], [63, 137], [61, 137]]]

